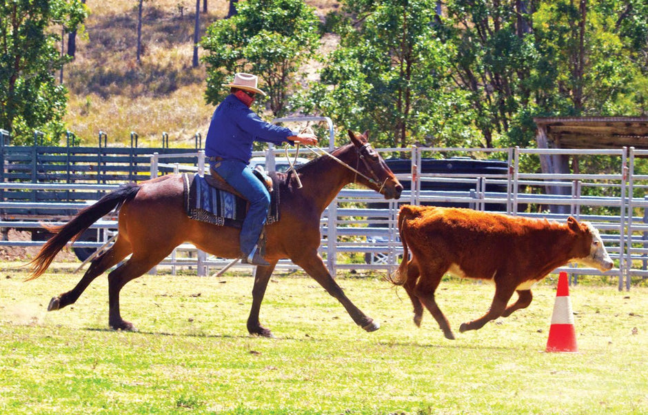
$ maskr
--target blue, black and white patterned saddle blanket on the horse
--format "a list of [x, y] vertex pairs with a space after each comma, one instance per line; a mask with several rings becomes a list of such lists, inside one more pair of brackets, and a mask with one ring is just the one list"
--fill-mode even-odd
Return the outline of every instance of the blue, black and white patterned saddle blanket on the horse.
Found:
[[[279, 183], [272, 175], [273, 191], [266, 224], [279, 221]], [[241, 227], [247, 201], [225, 190], [212, 188], [203, 176], [183, 174], [185, 212], [191, 219], [219, 226]]]

